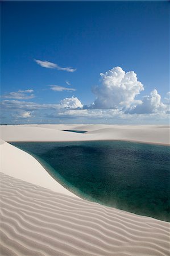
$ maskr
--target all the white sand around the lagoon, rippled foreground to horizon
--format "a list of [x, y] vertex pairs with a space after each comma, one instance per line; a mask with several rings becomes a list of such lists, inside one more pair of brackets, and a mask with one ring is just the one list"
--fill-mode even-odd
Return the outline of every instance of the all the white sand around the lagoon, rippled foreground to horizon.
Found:
[[[168, 145], [169, 126], [1, 126], [1, 138], [125, 139]], [[1, 255], [169, 255], [168, 222], [79, 199], [52, 179], [34, 157], [4, 141], [0, 175]]]

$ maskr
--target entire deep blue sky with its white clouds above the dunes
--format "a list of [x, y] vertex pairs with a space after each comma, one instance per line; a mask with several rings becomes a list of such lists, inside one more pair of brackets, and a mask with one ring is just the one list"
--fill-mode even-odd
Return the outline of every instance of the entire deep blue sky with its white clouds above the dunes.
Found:
[[1, 15], [1, 123], [169, 122], [168, 1], [3, 1]]

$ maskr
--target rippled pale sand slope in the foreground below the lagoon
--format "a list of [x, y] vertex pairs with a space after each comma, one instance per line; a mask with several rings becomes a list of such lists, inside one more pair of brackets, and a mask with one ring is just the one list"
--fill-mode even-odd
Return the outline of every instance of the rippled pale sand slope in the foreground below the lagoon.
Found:
[[1, 255], [169, 255], [168, 222], [0, 177]]

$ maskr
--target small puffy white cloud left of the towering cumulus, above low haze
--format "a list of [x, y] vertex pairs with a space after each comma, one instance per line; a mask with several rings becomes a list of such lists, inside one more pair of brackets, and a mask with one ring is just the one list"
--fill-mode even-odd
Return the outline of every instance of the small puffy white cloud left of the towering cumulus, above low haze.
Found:
[[64, 98], [60, 101], [61, 109], [81, 109], [83, 105], [77, 97], [72, 96], [71, 98]]

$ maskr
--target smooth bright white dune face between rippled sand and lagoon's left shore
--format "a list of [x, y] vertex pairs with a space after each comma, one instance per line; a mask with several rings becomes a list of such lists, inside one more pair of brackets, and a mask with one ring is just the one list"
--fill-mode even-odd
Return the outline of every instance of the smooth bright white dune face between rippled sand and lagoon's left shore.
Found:
[[1, 171], [5, 174], [65, 195], [77, 197], [57, 183], [30, 154], [4, 141], [1, 141], [0, 149]]

